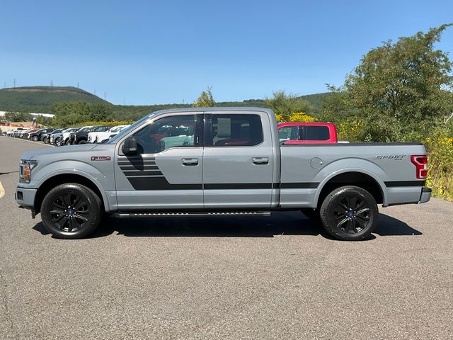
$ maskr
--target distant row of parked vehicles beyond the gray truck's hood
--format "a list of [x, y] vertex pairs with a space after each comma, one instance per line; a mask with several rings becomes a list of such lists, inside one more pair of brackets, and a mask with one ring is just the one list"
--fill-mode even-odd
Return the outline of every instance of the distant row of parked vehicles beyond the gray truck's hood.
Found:
[[129, 125], [93, 125], [82, 128], [17, 128], [16, 130], [6, 132], [6, 135], [25, 140], [41, 141], [45, 144], [56, 145], [76, 145], [86, 143], [103, 143], [118, 132], [127, 128]]

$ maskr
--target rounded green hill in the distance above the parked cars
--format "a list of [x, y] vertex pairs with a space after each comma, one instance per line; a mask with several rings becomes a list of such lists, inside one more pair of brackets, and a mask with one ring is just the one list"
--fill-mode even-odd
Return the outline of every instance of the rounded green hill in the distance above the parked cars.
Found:
[[0, 111], [50, 113], [53, 103], [63, 101], [108, 103], [93, 94], [71, 86], [25, 86], [0, 89]]

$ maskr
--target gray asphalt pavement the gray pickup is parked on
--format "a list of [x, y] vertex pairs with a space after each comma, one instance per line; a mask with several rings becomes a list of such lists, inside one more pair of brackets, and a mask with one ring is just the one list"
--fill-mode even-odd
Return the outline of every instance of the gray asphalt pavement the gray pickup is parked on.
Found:
[[0, 339], [452, 339], [453, 203], [380, 208], [362, 242], [299, 212], [110, 217], [52, 238], [0, 137]]

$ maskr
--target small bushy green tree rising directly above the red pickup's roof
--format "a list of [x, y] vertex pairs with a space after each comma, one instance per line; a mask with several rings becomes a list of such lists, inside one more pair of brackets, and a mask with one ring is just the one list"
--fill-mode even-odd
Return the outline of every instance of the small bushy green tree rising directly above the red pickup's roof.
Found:
[[308, 101], [294, 94], [286, 94], [285, 90], [274, 91], [273, 98], [265, 98], [265, 104], [274, 111], [277, 120], [288, 122], [293, 113], [309, 113], [311, 106]]

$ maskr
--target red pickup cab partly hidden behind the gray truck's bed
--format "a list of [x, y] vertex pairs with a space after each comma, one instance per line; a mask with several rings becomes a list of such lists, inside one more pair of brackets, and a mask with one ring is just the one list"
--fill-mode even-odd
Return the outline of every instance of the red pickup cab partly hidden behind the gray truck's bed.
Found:
[[328, 144], [336, 143], [337, 130], [333, 123], [279, 123], [280, 144]]

